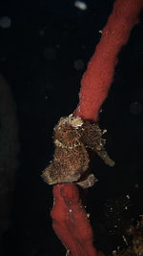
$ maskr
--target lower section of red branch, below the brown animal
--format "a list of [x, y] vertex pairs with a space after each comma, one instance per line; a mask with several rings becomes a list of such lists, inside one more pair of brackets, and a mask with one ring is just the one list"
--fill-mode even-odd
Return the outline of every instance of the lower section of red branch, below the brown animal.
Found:
[[62, 183], [53, 186], [52, 227], [71, 256], [104, 256], [93, 246], [92, 226], [79, 195], [77, 185]]

